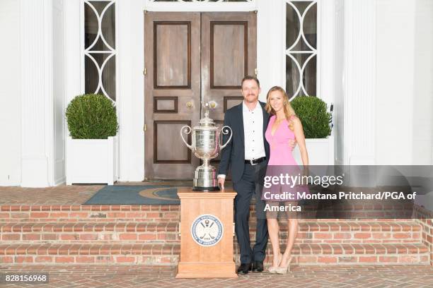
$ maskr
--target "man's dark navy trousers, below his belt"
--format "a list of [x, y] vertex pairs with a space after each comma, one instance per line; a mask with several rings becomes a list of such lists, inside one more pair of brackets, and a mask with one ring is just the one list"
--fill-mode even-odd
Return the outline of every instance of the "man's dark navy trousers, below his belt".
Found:
[[[264, 176], [266, 164], [267, 161], [255, 165], [245, 164], [241, 180], [233, 182], [233, 188], [237, 192], [234, 205], [236, 237], [241, 248], [241, 263], [265, 260], [268, 234], [266, 217], [259, 217], [265, 209], [265, 201], [261, 200], [262, 189], [259, 179]], [[251, 249], [248, 220], [250, 217], [250, 200], [253, 195], [255, 196], [255, 211], [258, 219], [255, 245]]]

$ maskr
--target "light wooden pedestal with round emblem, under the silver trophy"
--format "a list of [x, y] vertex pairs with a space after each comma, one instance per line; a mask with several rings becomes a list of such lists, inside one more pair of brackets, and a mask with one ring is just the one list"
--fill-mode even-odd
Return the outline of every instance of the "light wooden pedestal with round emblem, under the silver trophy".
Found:
[[[236, 192], [226, 189], [206, 193], [179, 188], [178, 196], [180, 260], [176, 278], [238, 277], [233, 260], [233, 199]], [[221, 235], [218, 233], [220, 225], [223, 228]], [[212, 243], [214, 241], [217, 242]]]

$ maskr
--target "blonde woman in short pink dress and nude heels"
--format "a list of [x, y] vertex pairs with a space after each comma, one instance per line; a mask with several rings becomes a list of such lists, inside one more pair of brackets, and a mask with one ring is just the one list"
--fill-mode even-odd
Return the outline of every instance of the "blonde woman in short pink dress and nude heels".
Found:
[[[267, 112], [272, 115], [265, 132], [265, 138], [270, 144], [270, 160], [266, 172], [267, 178], [269, 179], [269, 176], [278, 176], [280, 172], [291, 175], [302, 174], [301, 169], [298, 167], [292, 155], [289, 140], [296, 140], [299, 151], [301, 152], [302, 164], [304, 167], [308, 167], [308, 153], [305, 145], [304, 131], [301, 121], [296, 117], [294, 109], [290, 105], [289, 97], [284, 89], [279, 86], [272, 87], [269, 92], [267, 92], [267, 104], [265, 108]], [[263, 192], [268, 191], [267, 197], [283, 192], [295, 192], [293, 194], [296, 195], [296, 191], [300, 191], [300, 187], [303, 187], [304, 190], [306, 189], [306, 186], [291, 186], [287, 185], [287, 183], [283, 183], [272, 185], [270, 189], [264, 189]], [[269, 200], [269, 198], [264, 196], [265, 194], [263, 194], [262, 199], [266, 200], [269, 206], [279, 205], [279, 200]], [[284, 201], [285, 206], [297, 206], [296, 196], [294, 199], [282, 201]], [[294, 212], [288, 212], [289, 232], [287, 236], [287, 246], [284, 253], [281, 253], [279, 249], [279, 225], [276, 216], [275, 213], [267, 212], [267, 229], [272, 244], [272, 253], [274, 255], [273, 263], [269, 271], [284, 274], [289, 271], [291, 249], [294, 246], [298, 234], [299, 224], [296, 214], [294, 214]]]

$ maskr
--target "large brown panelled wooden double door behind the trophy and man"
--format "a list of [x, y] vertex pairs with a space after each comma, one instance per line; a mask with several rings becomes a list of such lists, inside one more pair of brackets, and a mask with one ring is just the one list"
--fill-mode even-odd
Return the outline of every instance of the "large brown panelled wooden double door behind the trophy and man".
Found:
[[207, 102], [221, 126], [242, 101], [241, 80], [256, 71], [256, 26], [254, 12], [144, 13], [146, 179], [192, 179], [200, 160], [180, 128], [197, 126]]

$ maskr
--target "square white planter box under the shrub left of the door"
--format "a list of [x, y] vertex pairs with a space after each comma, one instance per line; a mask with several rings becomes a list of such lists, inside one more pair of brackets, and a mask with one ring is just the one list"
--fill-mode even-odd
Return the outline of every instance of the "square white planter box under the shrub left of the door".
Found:
[[117, 181], [117, 136], [67, 140], [67, 185]]

